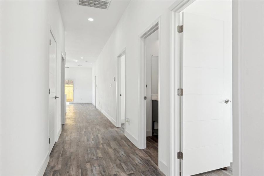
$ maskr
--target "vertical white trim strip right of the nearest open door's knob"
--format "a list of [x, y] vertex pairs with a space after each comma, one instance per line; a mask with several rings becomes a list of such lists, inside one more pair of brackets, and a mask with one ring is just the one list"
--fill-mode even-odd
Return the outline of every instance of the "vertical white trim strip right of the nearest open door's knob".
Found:
[[232, 2], [233, 175], [241, 175], [241, 1]]

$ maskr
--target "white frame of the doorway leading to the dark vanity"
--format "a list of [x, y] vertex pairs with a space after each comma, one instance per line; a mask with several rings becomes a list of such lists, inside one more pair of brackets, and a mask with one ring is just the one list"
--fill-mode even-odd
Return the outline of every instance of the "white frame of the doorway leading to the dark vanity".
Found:
[[[161, 16], [157, 18], [154, 22], [152, 22], [149, 27], [147, 27], [141, 34], [139, 34], [139, 43], [140, 43], [140, 60], [139, 60], [139, 136], [138, 136], [138, 148], [143, 149], [147, 147], [147, 106], [144, 97], [146, 96], [146, 39], [149, 35], [158, 31], [159, 35], [159, 82], [158, 82], [158, 97], [160, 100], [160, 73], [161, 73]], [[151, 98], [151, 97], [147, 97]], [[159, 101], [159, 108], [160, 109], [160, 101]], [[160, 110], [159, 110], [159, 119], [160, 119]], [[159, 131], [162, 131], [161, 125], [159, 123]], [[159, 139], [161, 137], [159, 134]], [[158, 140], [159, 140], [158, 139]], [[159, 145], [159, 144], [158, 144]], [[158, 147], [158, 166], [161, 166], [160, 161], [160, 145]]]

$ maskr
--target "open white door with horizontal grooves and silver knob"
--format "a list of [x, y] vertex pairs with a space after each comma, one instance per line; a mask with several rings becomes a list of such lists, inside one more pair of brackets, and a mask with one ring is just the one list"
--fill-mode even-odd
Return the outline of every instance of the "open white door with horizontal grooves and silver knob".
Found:
[[181, 171], [194, 175], [230, 165], [231, 57], [223, 21], [183, 13], [182, 23]]

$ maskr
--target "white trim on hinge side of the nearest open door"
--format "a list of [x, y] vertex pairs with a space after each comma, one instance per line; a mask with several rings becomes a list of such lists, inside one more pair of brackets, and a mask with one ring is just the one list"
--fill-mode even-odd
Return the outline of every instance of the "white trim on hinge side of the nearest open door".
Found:
[[176, 94], [176, 89], [180, 87], [178, 73], [180, 72], [180, 53], [178, 51], [179, 37], [176, 32], [176, 26], [179, 23], [179, 12], [193, 3], [195, 0], [179, 0], [171, 5], [171, 117], [170, 117], [170, 163], [168, 165], [167, 175], [179, 175], [180, 160], [176, 158], [177, 151], [180, 151], [180, 99]]

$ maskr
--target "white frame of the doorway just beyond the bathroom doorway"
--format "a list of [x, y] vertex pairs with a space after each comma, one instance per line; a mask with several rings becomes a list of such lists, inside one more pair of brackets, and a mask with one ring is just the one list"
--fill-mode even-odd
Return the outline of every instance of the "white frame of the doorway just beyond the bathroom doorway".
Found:
[[[121, 127], [121, 100], [120, 100], [120, 90], [121, 90], [121, 57], [125, 56], [125, 93], [124, 96], [125, 97], [125, 102], [126, 102], [126, 48], [122, 49], [122, 51], [120, 52], [120, 54], [117, 56], [117, 77], [116, 77], [116, 127]], [[126, 103], [125, 103], [125, 121], [126, 121]], [[125, 129], [126, 129], [126, 123], [125, 123]]]

